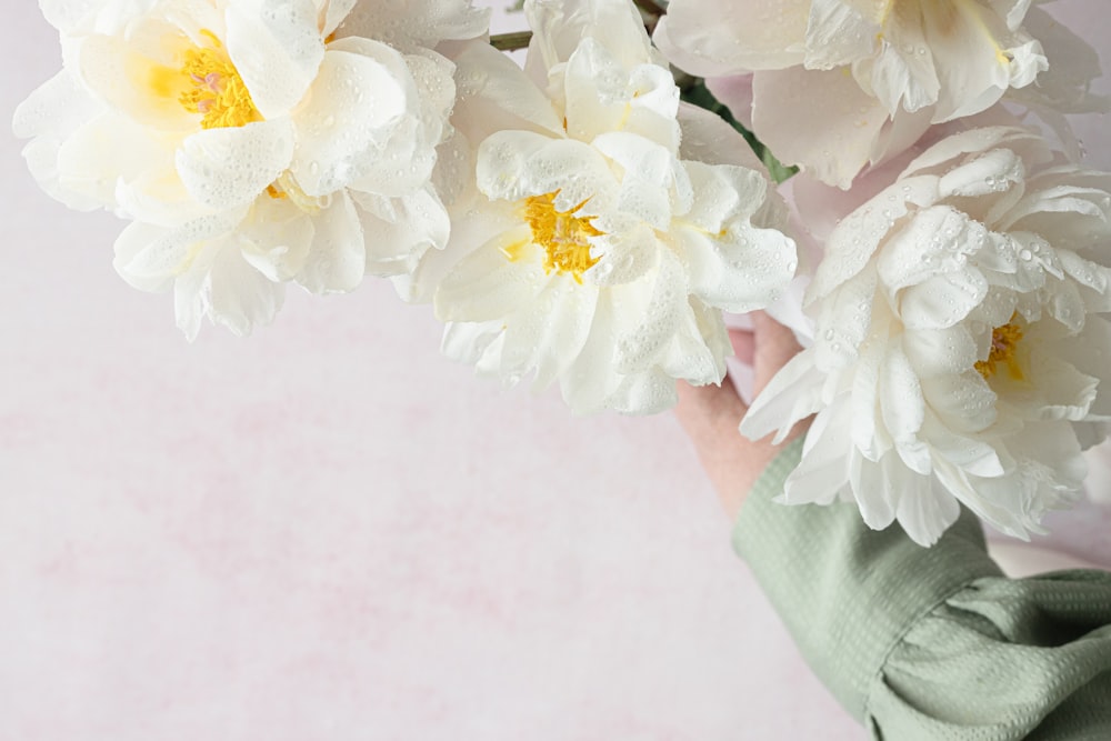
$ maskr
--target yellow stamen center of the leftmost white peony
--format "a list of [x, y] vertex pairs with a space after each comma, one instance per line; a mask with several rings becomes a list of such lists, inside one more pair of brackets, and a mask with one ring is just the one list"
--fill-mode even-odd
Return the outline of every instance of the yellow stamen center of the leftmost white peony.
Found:
[[211, 31], [202, 33], [212, 46], [186, 51], [181, 74], [189, 84], [178, 101], [190, 113], [203, 116], [201, 127], [206, 129], [241, 127], [261, 121], [262, 114], [254, 108], [251, 92], [231, 63], [223, 44]]

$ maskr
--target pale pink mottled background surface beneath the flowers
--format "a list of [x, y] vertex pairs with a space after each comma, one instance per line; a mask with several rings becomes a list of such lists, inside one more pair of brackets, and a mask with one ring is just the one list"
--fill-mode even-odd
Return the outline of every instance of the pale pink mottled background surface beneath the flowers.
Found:
[[[1098, 4], [1078, 28], [1105, 46]], [[10, 117], [60, 61], [32, 3], [4, 20]], [[113, 272], [121, 223], [49, 200], [21, 146], [0, 137], [0, 741], [863, 738], [670, 415], [478, 381], [381, 282], [190, 346]], [[1111, 564], [1109, 525], [1087, 505], [1050, 542]]]

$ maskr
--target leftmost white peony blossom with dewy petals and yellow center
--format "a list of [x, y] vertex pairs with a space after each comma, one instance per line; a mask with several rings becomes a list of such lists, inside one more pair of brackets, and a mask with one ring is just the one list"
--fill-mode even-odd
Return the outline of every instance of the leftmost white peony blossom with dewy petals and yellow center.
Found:
[[[197, 311], [249, 331], [272, 318], [284, 282], [349, 291], [446, 243], [431, 177], [453, 67], [431, 47], [486, 32], [488, 11], [354, 4], [46, 3], [64, 68], [16, 112], [30, 168], [66, 203], [138, 222], [117, 268], [136, 286], [172, 286], [187, 333]], [[250, 288], [232, 299], [236, 286]]]

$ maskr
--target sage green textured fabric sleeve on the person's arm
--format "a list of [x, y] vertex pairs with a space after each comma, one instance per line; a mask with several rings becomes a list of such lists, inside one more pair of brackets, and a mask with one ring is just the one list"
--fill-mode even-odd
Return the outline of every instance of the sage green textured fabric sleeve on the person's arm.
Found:
[[1111, 741], [1111, 573], [1007, 579], [968, 512], [927, 549], [850, 503], [777, 504], [800, 452], [753, 487], [733, 548], [871, 738]]

